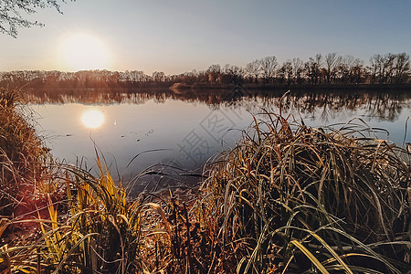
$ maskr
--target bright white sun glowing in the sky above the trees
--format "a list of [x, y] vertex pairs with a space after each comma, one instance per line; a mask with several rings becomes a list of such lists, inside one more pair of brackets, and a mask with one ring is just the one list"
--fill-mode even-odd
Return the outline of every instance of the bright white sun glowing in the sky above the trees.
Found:
[[89, 34], [65, 37], [60, 44], [62, 66], [68, 70], [104, 69], [110, 67], [110, 51], [98, 38]]

